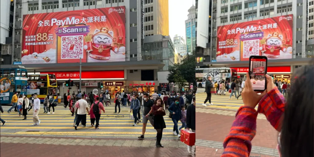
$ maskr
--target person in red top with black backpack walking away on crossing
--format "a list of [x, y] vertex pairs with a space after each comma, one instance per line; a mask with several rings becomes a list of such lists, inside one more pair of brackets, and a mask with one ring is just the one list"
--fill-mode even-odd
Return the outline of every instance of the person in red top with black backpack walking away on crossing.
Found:
[[96, 101], [90, 106], [89, 115], [90, 123], [93, 127], [96, 121], [95, 129], [99, 129], [99, 120], [101, 115], [101, 110], [105, 113], [104, 105], [100, 102], [100, 97], [96, 97]]

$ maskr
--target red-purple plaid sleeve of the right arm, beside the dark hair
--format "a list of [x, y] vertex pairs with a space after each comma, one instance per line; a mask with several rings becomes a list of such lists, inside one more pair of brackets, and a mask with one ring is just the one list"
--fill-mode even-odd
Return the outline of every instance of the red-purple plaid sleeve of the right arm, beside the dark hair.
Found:
[[284, 113], [285, 99], [277, 87], [269, 91], [258, 104], [258, 113], [263, 113], [268, 122], [277, 130], [281, 131], [280, 117]]

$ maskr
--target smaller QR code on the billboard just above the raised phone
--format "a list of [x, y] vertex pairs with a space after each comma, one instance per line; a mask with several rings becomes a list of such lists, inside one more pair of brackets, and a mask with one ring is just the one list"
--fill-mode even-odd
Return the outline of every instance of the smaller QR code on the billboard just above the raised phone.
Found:
[[247, 40], [243, 41], [243, 58], [249, 58], [250, 56], [259, 55], [259, 40]]

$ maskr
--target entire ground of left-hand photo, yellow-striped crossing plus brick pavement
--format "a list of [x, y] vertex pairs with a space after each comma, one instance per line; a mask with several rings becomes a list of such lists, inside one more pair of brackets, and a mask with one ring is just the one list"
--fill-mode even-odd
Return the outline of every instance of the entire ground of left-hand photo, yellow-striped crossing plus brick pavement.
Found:
[[[156, 148], [154, 127], [148, 123], [145, 139], [139, 140], [142, 122], [133, 127], [133, 120], [129, 117], [130, 108], [121, 107], [121, 113], [117, 114], [113, 113], [114, 105], [111, 104], [105, 106], [106, 113], [101, 114], [99, 130], [90, 126], [89, 116], [85, 128], [80, 125], [78, 130], [74, 130], [74, 116], [71, 116], [71, 112], [63, 104], [58, 104], [55, 114], [50, 115], [43, 114], [41, 104], [39, 126], [31, 126], [32, 110], [27, 120], [22, 120], [17, 112], [6, 112], [9, 106], [3, 106], [5, 112], [1, 114], [1, 118], [7, 122], [0, 127], [1, 156], [19, 155], [21, 152], [23, 156], [34, 156], [38, 153], [45, 156], [138, 156], [138, 153], [145, 156], [190, 156], [187, 146], [173, 135], [173, 122], [168, 116], [164, 117], [167, 128], [164, 129], [161, 141], [165, 148]], [[24, 149], [12, 151], [12, 147]]]

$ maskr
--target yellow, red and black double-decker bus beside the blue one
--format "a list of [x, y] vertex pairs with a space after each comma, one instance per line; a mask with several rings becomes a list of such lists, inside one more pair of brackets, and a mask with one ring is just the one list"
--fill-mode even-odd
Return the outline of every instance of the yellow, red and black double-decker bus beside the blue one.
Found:
[[27, 95], [37, 93], [37, 97], [44, 102], [47, 95], [52, 93], [57, 101], [57, 79], [53, 74], [31, 74], [27, 75]]

